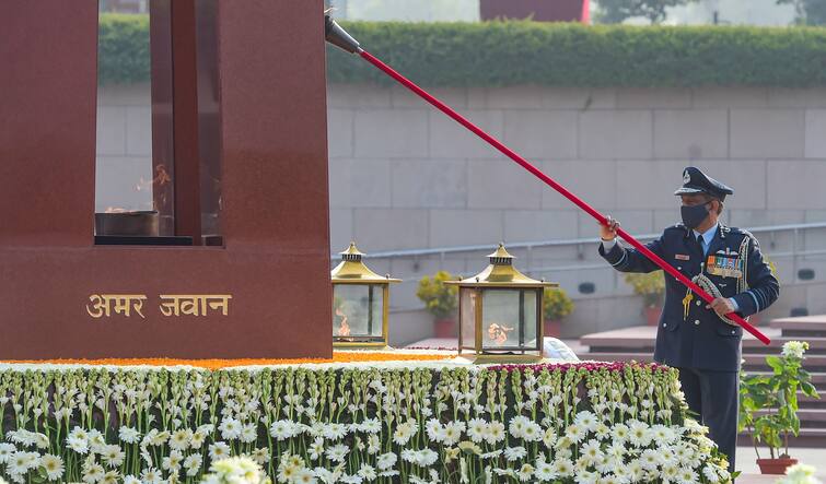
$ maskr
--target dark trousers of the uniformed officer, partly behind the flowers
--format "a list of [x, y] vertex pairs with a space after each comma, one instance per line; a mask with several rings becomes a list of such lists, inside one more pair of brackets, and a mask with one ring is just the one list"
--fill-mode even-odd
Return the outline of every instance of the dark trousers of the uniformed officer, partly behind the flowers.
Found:
[[699, 421], [702, 425], [709, 427], [709, 437], [729, 457], [729, 472], [734, 472], [740, 374], [697, 368], [678, 369], [688, 408], [700, 415]]

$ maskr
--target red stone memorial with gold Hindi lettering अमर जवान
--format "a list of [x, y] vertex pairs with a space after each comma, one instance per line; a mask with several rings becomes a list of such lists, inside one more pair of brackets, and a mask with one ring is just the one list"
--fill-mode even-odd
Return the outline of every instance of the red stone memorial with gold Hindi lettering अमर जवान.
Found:
[[97, 1], [0, 4], [3, 357], [329, 357], [317, 3], [151, 2], [154, 243], [190, 246], [95, 241]]

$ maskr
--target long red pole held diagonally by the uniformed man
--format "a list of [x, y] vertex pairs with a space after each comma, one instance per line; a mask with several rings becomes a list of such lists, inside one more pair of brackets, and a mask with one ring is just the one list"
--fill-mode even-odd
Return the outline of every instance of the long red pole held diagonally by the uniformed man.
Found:
[[[502, 154], [504, 154], [509, 158], [513, 160], [514, 162], [519, 163], [523, 168], [525, 168], [526, 170], [528, 170], [532, 174], [534, 174], [534, 176], [536, 176], [540, 180], [545, 181], [545, 184], [547, 184], [548, 186], [550, 186], [550, 188], [557, 190], [565, 198], [567, 198], [568, 200], [572, 201], [577, 206], [579, 206], [580, 209], [582, 209], [585, 212], [587, 212], [587, 214], [591, 215], [591, 216], [593, 216], [594, 219], [596, 219], [597, 222], [600, 222], [603, 225], [605, 225], [605, 224], [608, 223], [607, 222], [607, 217], [605, 215], [603, 215], [600, 212], [597, 212], [596, 210], [594, 210], [591, 205], [589, 205], [587, 203], [585, 203], [582, 199], [580, 199], [575, 194], [571, 193], [567, 188], [565, 188], [563, 186], [559, 185], [552, 178], [550, 178], [549, 176], [547, 176], [544, 173], [542, 173], [539, 170], [539, 168], [537, 168], [534, 165], [532, 165], [531, 163], [528, 163], [527, 160], [525, 160], [522, 156], [520, 156], [519, 154], [516, 154], [513, 150], [511, 150], [510, 147], [508, 147], [504, 144], [502, 144], [496, 138], [493, 138], [490, 134], [488, 134], [485, 131], [482, 131], [479, 127], [477, 127], [473, 122], [468, 121], [467, 118], [465, 118], [464, 116], [462, 116], [458, 113], [456, 113], [455, 110], [453, 110], [450, 106], [447, 106], [446, 104], [444, 104], [441, 101], [437, 99], [435, 97], [431, 96], [430, 93], [428, 93], [427, 91], [422, 90], [418, 85], [414, 84], [412, 81], [410, 81], [409, 79], [407, 79], [404, 75], [399, 74], [393, 68], [391, 68], [386, 63], [382, 62], [381, 60], [376, 59], [375, 57], [373, 57], [367, 50], [359, 49], [358, 54], [364, 60], [367, 60], [368, 62], [372, 63], [373, 66], [375, 66], [380, 70], [384, 71], [385, 74], [387, 74], [391, 78], [395, 79], [400, 84], [403, 84], [405, 87], [407, 87], [410, 91], [412, 91], [414, 93], [416, 93], [419, 97], [421, 97], [422, 99], [424, 99], [428, 103], [432, 104], [439, 110], [441, 110], [445, 115], [447, 115], [451, 118], [453, 118], [456, 122], [458, 122], [459, 125], [464, 126], [468, 130], [473, 131], [477, 137], [479, 137], [482, 140], [487, 141], [490, 145], [492, 145], [493, 147], [496, 147], [497, 150], [499, 150], [500, 152], [502, 152]], [[628, 234], [627, 232], [625, 232], [623, 228], [617, 228], [617, 235], [619, 235], [620, 237], [623, 237], [626, 241], [628, 241], [628, 244], [630, 244], [631, 246], [633, 246], [633, 248], [636, 248], [637, 250], [639, 250], [640, 252], [642, 252], [642, 255], [644, 255], [645, 257], [648, 257], [649, 259], [651, 259], [654, 263], [656, 263], [658, 265], [660, 265], [660, 268], [662, 268], [663, 271], [665, 271], [668, 274], [673, 275], [679, 282], [682, 282], [687, 287], [689, 287], [691, 291], [694, 291], [695, 293], [697, 293], [697, 295], [700, 296], [706, 303], [711, 304], [711, 302], [714, 300], [714, 298], [711, 295], [709, 295], [708, 293], [706, 293], [705, 291], [702, 291], [702, 288], [700, 288], [700, 286], [698, 286], [697, 284], [695, 284], [694, 282], [691, 282], [691, 280], [689, 280], [688, 278], [686, 278], [685, 275], [683, 275], [679, 271], [677, 271], [676, 269], [674, 269], [670, 263], [667, 263], [666, 261], [664, 261], [660, 256], [658, 256], [656, 253], [654, 253], [651, 250], [649, 250], [648, 247], [645, 247], [642, 244], [640, 244], [636, 238], [633, 238], [630, 234]], [[730, 312], [726, 316], [730, 319], [732, 319], [733, 321], [735, 321], [737, 324], [742, 326], [743, 329], [745, 329], [749, 333], [754, 334], [754, 337], [757, 338], [758, 340], [760, 340], [764, 344], [771, 343], [771, 340], [769, 340], [765, 334], [763, 334], [759, 330], [757, 330], [757, 328], [755, 328], [754, 326], [752, 326], [748, 321], [746, 321], [745, 319], [741, 318], [736, 314]]]

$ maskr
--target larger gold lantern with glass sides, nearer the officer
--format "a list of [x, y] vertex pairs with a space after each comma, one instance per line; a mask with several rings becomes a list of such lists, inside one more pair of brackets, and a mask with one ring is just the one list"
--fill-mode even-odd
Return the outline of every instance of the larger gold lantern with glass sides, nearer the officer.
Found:
[[543, 296], [559, 284], [536, 281], [513, 267], [502, 244], [490, 265], [458, 285], [458, 353], [475, 363], [542, 359]]

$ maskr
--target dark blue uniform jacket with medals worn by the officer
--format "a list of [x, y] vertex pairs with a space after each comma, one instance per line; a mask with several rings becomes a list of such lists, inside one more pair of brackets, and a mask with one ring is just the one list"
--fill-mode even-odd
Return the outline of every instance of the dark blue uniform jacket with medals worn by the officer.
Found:
[[[748, 291], [737, 292], [736, 276], [714, 275], [708, 272], [708, 256], [737, 252], [741, 243], [748, 238], [745, 262]], [[764, 261], [757, 239], [740, 228], [718, 226], [708, 256], [703, 256], [693, 231], [683, 224], [666, 228], [659, 239], [647, 245], [652, 252], [672, 264], [688, 279], [702, 271], [720, 290], [722, 297], [733, 297], [737, 314], [747, 317], [761, 311], [777, 300], [780, 286]], [[600, 255], [620, 272], [652, 272], [660, 267], [636, 249], [624, 248], [619, 241], [606, 253], [600, 245]], [[685, 316], [686, 286], [676, 278], [665, 274], [665, 304], [656, 331], [654, 359], [683, 368], [736, 371], [740, 369], [743, 329], [720, 319], [706, 302], [694, 295]]]

